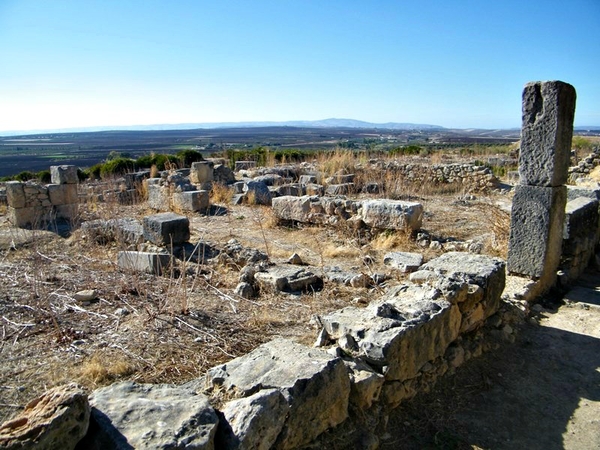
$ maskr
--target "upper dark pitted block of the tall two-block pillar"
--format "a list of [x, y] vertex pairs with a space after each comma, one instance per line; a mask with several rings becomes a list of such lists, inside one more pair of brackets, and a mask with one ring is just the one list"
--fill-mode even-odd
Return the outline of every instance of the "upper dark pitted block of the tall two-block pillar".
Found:
[[575, 88], [562, 81], [525, 85], [519, 152], [521, 184], [550, 187], [567, 182], [576, 96]]

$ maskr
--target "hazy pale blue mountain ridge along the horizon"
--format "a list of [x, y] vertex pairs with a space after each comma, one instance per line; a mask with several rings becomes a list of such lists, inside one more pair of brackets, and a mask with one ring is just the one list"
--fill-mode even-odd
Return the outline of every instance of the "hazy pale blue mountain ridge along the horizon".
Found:
[[324, 120], [294, 120], [287, 122], [203, 122], [203, 123], [177, 123], [154, 125], [127, 125], [127, 126], [98, 126], [81, 128], [61, 128], [52, 130], [18, 130], [0, 131], [0, 136], [20, 136], [26, 134], [42, 133], [78, 133], [93, 131], [165, 131], [165, 130], [192, 130], [197, 128], [257, 128], [257, 127], [301, 127], [301, 128], [378, 128], [387, 130], [442, 130], [439, 125], [426, 125], [418, 123], [372, 123], [354, 119], [324, 119]]

